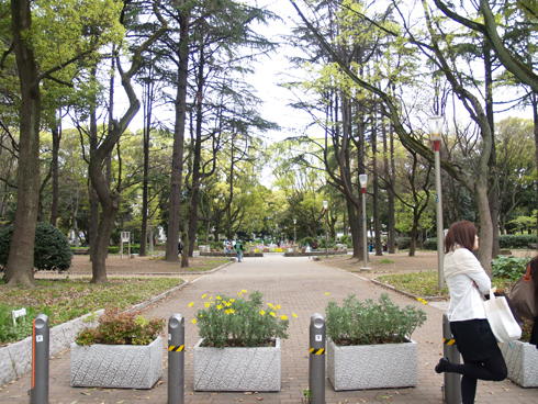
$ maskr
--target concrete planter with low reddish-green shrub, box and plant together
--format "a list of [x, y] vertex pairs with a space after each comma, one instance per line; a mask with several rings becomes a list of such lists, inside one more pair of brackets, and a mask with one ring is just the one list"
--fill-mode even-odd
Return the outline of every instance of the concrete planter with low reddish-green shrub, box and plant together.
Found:
[[71, 385], [152, 389], [162, 375], [164, 319], [107, 310], [71, 344]]

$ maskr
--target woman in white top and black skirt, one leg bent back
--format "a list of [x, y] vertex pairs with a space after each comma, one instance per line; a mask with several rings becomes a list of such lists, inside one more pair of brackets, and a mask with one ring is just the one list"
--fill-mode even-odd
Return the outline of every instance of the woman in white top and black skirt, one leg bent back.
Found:
[[445, 238], [445, 278], [450, 292], [448, 318], [463, 364], [441, 358], [437, 373], [460, 373], [463, 404], [474, 403], [477, 380], [501, 381], [507, 370], [497, 341], [485, 317], [482, 294], [490, 293], [491, 280], [472, 254], [479, 248], [477, 227], [471, 222], [452, 224]]

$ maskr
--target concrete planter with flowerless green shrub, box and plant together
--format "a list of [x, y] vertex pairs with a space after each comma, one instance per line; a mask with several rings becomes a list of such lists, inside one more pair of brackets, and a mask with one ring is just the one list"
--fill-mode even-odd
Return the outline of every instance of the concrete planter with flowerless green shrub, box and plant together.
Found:
[[400, 307], [386, 293], [379, 303], [349, 295], [326, 312], [327, 373], [336, 391], [390, 389], [418, 384], [418, 347], [413, 332], [426, 313]]

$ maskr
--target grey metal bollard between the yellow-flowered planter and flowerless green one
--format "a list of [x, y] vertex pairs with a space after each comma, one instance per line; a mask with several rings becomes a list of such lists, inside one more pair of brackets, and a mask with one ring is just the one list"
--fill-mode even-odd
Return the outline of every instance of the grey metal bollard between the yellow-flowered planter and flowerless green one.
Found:
[[311, 404], [325, 404], [325, 317], [315, 313], [310, 319], [309, 390]]

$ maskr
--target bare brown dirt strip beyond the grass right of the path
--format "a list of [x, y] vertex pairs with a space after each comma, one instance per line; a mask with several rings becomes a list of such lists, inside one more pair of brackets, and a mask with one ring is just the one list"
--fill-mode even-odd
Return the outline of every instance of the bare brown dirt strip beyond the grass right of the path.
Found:
[[[512, 250], [514, 257], [533, 257], [534, 250]], [[323, 258], [323, 254], [320, 255]], [[365, 266], [363, 260], [347, 257], [329, 257], [322, 259], [322, 263], [328, 267], [341, 268], [348, 271], [360, 272], [366, 278], [377, 278], [381, 274], [418, 272], [425, 270], [437, 270], [437, 251], [416, 251], [414, 257], [408, 256], [408, 251], [396, 254], [383, 254], [383, 256], [368, 255], [368, 267], [370, 271], [361, 271]], [[393, 261], [393, 262], [389, 262]]]

